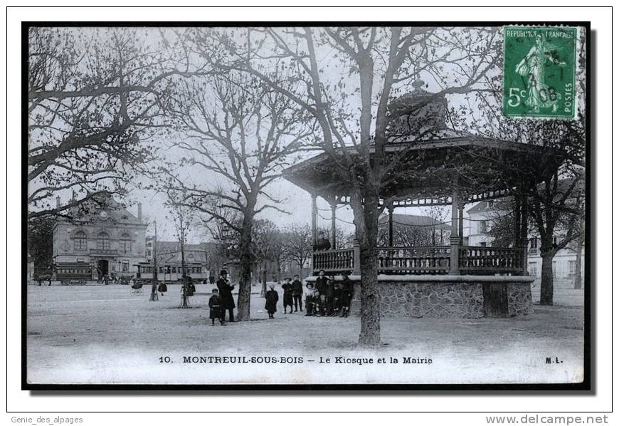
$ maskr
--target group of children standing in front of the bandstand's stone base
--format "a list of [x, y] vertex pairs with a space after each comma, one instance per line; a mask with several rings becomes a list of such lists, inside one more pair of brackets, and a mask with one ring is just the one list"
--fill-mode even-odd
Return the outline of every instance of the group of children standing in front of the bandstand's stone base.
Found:
[[[348, 274], [342, 274], [342, 281], [335, 281], [333, 277], [328, 279], [321, 269], [316, 284], [311, 282], [305, 284], [305, 291], [298, 275], [295, 275], [295, 280], [292, 282], [290, 278], [285, 279], [282, 289], [284, 313], [288, 313], [288, 307], [292, 313], [293, 304], [295, 312], [303, 311], [302, 296], [305, 295], [305, 316], [349, 316], [354, 287]], [[269, 318], [274, 318], [279, 298], [275, 285], [271, 284], [270, 290], [265, 294], [265, 309]]]

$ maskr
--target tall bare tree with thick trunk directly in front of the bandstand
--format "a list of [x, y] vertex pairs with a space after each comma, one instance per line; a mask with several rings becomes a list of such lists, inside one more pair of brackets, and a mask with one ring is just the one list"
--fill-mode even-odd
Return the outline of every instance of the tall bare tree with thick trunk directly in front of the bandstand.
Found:
[[[349, 182], [361, 252], [362, 346], [380, 342], [377, 297], [381, 188], [398, 179], [387, 157], [388, 103], [423, 73], [445, 93], [466, 93], [496, 65], [496, 30], [460, 28], [248, 28], [243, 36], [214, 31], [196, 36], [211, 66], [242, 71], [282, 93], [317, 123], [317, 142], [337, 164], [334, 179]], [[214, 46], [214, 47], [213, 47]], [[328, 57], [329, 61], [323, 61]], [[450, 73], [445, 66], [456, 69]], [[331, 67], [330, 69], [327, 69]], [[274, 70], [295, 74], [282, 78]], [[269, 70], [269, 71], [267, 71]], [[295, 80], [295, 88], [285, 83]], [[350, 147], [354, 147], [354, 156]], [[401, 158], [410, 161], [403, 155]]]

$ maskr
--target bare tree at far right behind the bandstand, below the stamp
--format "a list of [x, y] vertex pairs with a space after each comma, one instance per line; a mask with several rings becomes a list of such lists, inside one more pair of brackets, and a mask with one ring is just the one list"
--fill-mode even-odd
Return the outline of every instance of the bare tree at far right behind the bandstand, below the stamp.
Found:
[[[474, 93], [467, 98], [475, 104], [477, 117], [471, 118], [471, 108], [452, 110], [450, 118], [455, 127], [475, 130], [487, 137], [500, 140], [514, 140], [546, 148], [542, 170], [512, 170], [522, 180], [522, 191], [509, 200], [512, 213], [499, 214], [494, 234], [502, 233], [502, 238], [512, 241], [527, 236], [528, 228], [539, 235], [541, 266], [540, 303], [553, 304], [554, 277], [552, 259], [563, 248], [582, 239], [584, 234], [584, 167], [586, 164], [586, 34], [579, 41], [578, 77], [581, 96], [578, 98], [576, 120], [510, 120], [499, 111], [502, 103], [502, 76], [500, 73], [487, 76], [487, 90]], [[535, 185], [534, 182], [542, 182]], [[513, 229], [513, 231], [512, 231]], [[557, 231], [565, 231], [561, 238], [555, 239]], [[558, 241], [556, 241], [558, 240]], [[523, 241], [524, 242], [524, 241]], [[521, 243], [522, 244], [522, 243]]]

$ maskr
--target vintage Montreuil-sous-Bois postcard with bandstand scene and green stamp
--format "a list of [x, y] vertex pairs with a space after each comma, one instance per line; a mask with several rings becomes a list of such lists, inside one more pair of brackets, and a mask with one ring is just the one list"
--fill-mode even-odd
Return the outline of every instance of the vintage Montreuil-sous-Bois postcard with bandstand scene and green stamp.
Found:
[[24, 389], [591, 386], [587, 23], [23, 23]]

